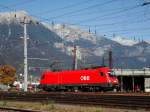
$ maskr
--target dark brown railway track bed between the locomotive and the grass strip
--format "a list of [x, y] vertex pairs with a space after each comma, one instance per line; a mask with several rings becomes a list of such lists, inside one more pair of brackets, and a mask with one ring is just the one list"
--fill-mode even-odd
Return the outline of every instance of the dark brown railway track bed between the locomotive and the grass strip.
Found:
[[96, 105], [116, 108], [150, 110], [149, 94], [109, 93], [0, 93], [0, 100]]

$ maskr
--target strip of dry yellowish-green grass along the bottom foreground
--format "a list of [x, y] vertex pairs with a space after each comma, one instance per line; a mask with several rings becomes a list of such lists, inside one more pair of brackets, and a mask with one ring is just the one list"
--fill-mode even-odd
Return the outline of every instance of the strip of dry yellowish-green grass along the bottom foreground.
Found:
[[0, 101], [0, 107], [14, 107], [31, 110], [41, 110], [41, 112], [145, 112], [144, 110], [127, 110], [127, 109], [115, 109], [104, 108], [94, 106], [79, 106], [79, 105], [67, 105], [56, 104], [53, 101], [47, 103], [37, 102], [19, 102], [19, 101]]

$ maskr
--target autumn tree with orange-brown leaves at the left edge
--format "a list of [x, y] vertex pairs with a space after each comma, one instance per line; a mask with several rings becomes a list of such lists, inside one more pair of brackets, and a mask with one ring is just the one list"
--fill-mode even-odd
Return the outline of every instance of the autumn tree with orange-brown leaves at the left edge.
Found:
[[0, 66], [0, 84], [13, 84], [16, 80], [16, 69], [10, 65]]

